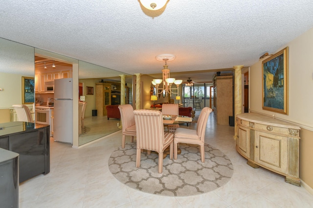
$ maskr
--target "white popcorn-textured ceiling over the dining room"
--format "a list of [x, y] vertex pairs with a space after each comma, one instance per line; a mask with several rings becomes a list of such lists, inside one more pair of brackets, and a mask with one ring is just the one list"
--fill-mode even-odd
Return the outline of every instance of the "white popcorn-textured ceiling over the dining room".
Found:
[[155, 18], [137, 0], [0, 5], [0, 38], [127, 74], [160, 73], [159, 54], [171, 73], [250, 66], [313, 27], [313, 0], [169, 0]]

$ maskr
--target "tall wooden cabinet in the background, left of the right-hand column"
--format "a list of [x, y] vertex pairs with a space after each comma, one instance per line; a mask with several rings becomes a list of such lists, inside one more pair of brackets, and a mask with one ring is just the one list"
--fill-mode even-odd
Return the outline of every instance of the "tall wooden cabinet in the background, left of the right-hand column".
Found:
[[233, 116], [233, 76], [221, 74], [213, 78], [214, 115], [217, 124], [228, 125], [229, 116]]

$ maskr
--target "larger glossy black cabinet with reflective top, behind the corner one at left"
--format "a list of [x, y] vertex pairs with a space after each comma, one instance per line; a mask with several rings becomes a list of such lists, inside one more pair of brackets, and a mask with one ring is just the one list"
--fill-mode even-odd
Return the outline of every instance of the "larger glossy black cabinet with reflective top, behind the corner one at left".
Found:
[[0, 148], [18, 153], [20, 183], [50, 172], [50, 128], [29, 122], [0, 124]]

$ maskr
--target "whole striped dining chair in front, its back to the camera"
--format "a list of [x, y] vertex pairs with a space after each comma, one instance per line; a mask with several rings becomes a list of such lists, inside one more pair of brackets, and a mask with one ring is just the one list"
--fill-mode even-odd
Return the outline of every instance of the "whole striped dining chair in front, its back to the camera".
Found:
[[163, 116], [159, 111], [134, 110], [136, 122], [136, 168], [140, 167], [141, 150], [158, 152], [158, 173], [163, 172], [163, 152], [170, 147], [173, 159], [174, 134], [164, 132]]

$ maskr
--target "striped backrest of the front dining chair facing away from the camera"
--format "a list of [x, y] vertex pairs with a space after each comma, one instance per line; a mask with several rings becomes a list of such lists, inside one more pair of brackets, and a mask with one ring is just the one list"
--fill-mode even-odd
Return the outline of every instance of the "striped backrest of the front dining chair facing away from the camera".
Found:
[[162, 151], [164, 146], [163, 116], [159, 111], [134, 110], [137, 149]]

